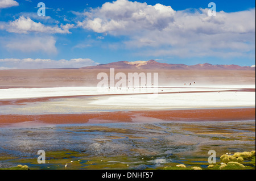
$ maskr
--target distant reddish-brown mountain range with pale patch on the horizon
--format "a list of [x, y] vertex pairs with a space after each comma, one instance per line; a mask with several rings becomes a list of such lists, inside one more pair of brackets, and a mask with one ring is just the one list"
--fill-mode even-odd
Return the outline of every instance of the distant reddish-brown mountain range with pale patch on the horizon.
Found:
[[255, 70], [255, 66], [239, 66], [239, 65], [212, 65], [212, 64], [166, 64], [155, 60], [149, 61], [119, 61], [109, 64], [100, 64], [96, 66], [86, 66], [80, 69], [166, 69], [166, 70]]

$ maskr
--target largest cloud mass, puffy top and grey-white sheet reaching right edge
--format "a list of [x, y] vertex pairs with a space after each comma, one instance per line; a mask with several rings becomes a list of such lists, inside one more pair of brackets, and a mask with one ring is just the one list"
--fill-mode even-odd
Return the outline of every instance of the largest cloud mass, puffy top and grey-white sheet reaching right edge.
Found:
[[175, 11], [171, 6], [117, 0], [83, 15], [77, 26], [127, 36], [126, 48], [152, 47], [140, 49], [148, 56], [255, 56], [255, 8], [208, 16], [208, 9]]

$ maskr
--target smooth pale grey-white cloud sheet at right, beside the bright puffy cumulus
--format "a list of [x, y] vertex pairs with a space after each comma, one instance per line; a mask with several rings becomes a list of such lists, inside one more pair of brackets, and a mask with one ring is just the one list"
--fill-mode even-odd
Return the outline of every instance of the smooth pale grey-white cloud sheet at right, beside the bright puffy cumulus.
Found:
[[[150, 40], [152, 43], [148, 43]], [[164, 30], [143, 31], [131, 36], [125, 44], [127, 47], [156, 47], [141, 52], [148, 56], [236, 57], [255, 54], [255, 9], [218, 12], [216, 17], [179, 11], [175, 22]]]

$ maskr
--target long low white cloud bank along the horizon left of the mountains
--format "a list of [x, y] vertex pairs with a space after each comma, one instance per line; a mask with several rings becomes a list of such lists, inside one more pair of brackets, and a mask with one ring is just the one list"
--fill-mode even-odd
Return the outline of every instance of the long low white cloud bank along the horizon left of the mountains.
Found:
[[51, 68], [81, 68], [84, 66], [97, 65], [89, 58], [73, 58], [71, 60], [51, 60], [41, 58], [5, 58], [0, 59], [2, 70], [6, 69], [51, 69]]

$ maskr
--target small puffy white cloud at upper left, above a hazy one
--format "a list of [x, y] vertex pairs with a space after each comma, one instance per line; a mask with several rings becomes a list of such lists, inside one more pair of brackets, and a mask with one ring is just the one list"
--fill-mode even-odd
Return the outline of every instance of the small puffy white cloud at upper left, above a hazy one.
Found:
[[45, 26], [42, 23], [36, 23], [29, 17], [25, 18], [20, 16], [18, 19], [9, 23], [6, 26], [6, 31], [14, 33], [28, 33], [28, 32], [41, 32], [41, 33], [71, 33], [69, 29], [72, 28], [73, 24], [61, 24], [60, 27]]

